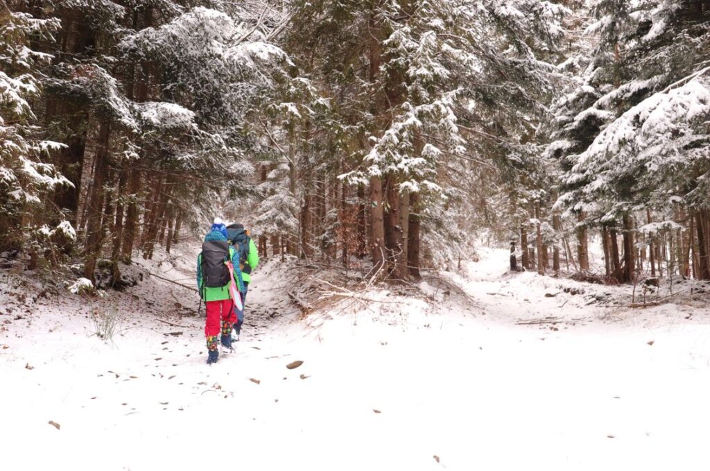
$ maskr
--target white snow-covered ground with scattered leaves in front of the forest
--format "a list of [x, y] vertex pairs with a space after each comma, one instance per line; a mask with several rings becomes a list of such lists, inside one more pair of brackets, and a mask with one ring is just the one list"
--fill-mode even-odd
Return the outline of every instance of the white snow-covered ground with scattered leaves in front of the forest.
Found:
[[[600, 307], [628, 288], [507, 258], [442, 274], [468, 296], [427, 279], [428, 297], [371, 291], [306, 319], [267, 264], [212, 367], [197, 295], [172, 283], [31, 310], [0, 294], [2, 468], [706, 470], [709, 311]], [[191, 256], [146, 268], [194, 283]], [[119, 311], [113, 342], [89, 309]]]

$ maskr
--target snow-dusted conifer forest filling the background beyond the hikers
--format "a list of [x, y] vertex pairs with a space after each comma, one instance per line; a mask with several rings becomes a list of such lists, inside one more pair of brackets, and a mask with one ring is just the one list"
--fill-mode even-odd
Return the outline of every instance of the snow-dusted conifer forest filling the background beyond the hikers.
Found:
[[115, 285], [223, 213], [393, 279], [483, 232], [541, 274], [708, 279], [708, 8], [4, 1], [0, 251]]

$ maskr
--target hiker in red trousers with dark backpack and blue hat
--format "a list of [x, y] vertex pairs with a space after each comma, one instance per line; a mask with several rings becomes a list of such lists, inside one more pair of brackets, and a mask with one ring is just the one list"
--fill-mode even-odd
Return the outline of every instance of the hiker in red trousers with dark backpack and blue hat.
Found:
[[[217, 335], [222, 332], [222, 346], [231, 350], [231, 330], [236, 321], [233, 293], [230, 293], [236, 283], [240, 293], [246, 293], [244, 280], [239, 269], [239, 254], [229, 245], [222, 230], [214, 220], [212, 228], [204, 236], [202, 252], [197, 256], [197, 289], [204, 301], [207, 320], [204, 324], [204, 336], [207, 337], [207, 363], [217, 362]], [[224, 224], [222, 224], [224, 227]], [[227, 263], [234, 266], [234, 277], [231, 276]], [[236, 295], [239, 296], [239, 295]], [[243, 296], [243, 295], [242, 295]], [[220, 329], [220, 320], [222, 328]]]

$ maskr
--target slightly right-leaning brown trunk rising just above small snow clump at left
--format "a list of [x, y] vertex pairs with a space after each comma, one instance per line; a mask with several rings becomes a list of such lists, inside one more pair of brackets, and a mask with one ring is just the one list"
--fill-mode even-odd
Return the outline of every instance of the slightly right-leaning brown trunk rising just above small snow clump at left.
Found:
[[97, 153], [94, 159], [94, 178], [92, 192], [87, 198], [87, 243], [84, 247], [84, 278], [94, 281], [94, 270], [101, 252], [101, 222], [103, 209], [103, 185], [109, 159], [109, 136], [111, 126], [109, 121], [103, 120], [99, 124], [97, 138]]

